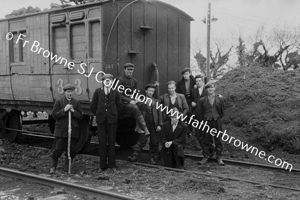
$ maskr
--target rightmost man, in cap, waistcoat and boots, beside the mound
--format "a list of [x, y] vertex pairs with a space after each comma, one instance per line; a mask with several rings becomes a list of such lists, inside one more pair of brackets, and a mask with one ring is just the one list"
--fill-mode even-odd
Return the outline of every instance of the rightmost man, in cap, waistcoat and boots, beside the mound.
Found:
[[203, 159], [198, 163], [207, 163], [209, 159], [210, 143], [213, 135], [216, 161], [219, 165], [224, 165], [221, 158], [222, 150], [224, 148], [221, 139], [222, 134], [218, 134], [218, 137], [216, 137], [217, 134], [213, 134], [215, 131], [213, 131], [212, 134], [210, 131], [212, 129], [216, 129], [216, 133], [219, 133], [219, 131], [222, 133], [221, 118], [224, 116], [223, 100], [214, 93], [215, 86], [213, 82], [209, 81], [206, 83], [204, 89], [207, 91], [207, 95], [198, 100], [196, 117], [199, 121], [203, 120], [203, 123], [207, 122], [206, 124], [208, 127], [204, 126], [204, 140], [202, 146]]

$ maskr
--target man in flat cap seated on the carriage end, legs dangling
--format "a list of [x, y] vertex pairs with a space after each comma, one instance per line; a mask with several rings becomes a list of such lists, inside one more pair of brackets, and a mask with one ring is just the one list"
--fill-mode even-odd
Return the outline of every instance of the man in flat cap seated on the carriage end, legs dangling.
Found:
[[126, 63], [124, 65], [125, 74], [119, 77], [119, 84], [124, 86], [124, 90], [120, 93], [123, 103], [123, 113], [134, 117], [138, 127], [141, 128], [141, 132], [147, 136], [150, 134], [146, 127], [146, 123], [142, 118], [142, 115], [136, 105], [135, 97], [133, 94], [138, 92], [137, 81], [132, 77], [134, 71], [134, 65], [132, 63]]

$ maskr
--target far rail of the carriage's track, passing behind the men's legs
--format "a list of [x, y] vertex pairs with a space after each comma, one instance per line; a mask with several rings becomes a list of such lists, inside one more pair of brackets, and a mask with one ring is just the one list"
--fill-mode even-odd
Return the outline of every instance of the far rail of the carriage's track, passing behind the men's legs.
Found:
[[[39, 132], [32, 132], [32, 131], [23, 131], [23, 130], [11, 129], [11, 128], [3, 128], [3, 129], [15, 130], [15, 131], [21, 131], [21, 132], [28, 132], [28, 133], [36, 133], [36, 134], [47, 134], [47, 135], [51, 135], [51, 136], [32, 135], [32, 134], [23, 133], [23, 135], [29, 135], [29, 136], [54, 138], [52, 136], [52, 134], [49, 134], [49, 133], [39, 133]], [[94, 142], [90, 142], [90, 143], [91, 144], [98, 144], [98, 143], [94, 143]], [[117, 147], [119, 147], [119, 146], [117, 146]], [[149, 149], [142, 149], [142, 151], [143, 152], [148, 152]], [[199, 160], [203, 158], [203, 156], [200, 156], [200, 155], [191, 155], [191, 154], [184, 154], [184, 156], [191, 157], [191, 158], [197, 158]], [[215, 158], [209, 158], [209, 159], [215, 160]], [[267, 164], [259, 164], [259, 163], [254, 163], [254, 162], [244, 162], [244, 161], [238, 161], [238, 160], [229, 160], [229, 159], [223, 159], [223, 158], [222, 158], [222, 160], [225, 161], [225, 162], [232, 163], [232, 164], [243, 164], [243, 165], [249, 165], [249, 166], [258, 166], [258, 167], [271, 168], [271, 169], [287, 170], [287, 169], [279, 167], [279, 166], [273, 166], [273, 165], [267, 165]], [[300, 169], [292, 168], [290, 170], [290, 172], [291, 171], [293, 171], [293, 172], [300, 172]]]

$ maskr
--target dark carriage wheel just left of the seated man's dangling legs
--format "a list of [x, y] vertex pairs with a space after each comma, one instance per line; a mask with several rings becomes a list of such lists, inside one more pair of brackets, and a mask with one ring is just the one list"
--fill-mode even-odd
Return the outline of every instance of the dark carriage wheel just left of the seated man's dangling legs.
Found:
[[135, 119], [131, 116], [125, 116], [118, 120], [116, 131], [116, 143], [122, 148], [130, 148], [136, 144], [138, 139], [135, 129]]

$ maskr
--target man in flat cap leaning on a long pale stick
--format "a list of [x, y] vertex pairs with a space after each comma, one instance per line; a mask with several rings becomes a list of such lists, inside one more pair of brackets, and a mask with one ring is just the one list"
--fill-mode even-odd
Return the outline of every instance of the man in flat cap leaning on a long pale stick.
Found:
[[68, 171], [68, 114], [71, 113], [71, 141], [70, 141], [70, 157], [71, 160], [75, 157], [76, 141], [80, 135], [79, 123], [82, 119], [82, 111], [79, 101], [73, 98], [75, 86], [67, 84], [63, 87], [63, 97], [56, 99], [52, 111], [53, 119], [56, 120], [54, 130], [54, 148], [52, 151], [52, 162], [50, 174], [55, 173], [58, 158], [60, 158], [65, 149], [64, 171]]

